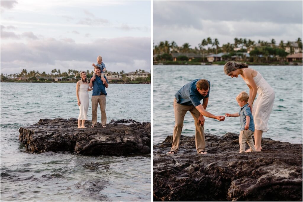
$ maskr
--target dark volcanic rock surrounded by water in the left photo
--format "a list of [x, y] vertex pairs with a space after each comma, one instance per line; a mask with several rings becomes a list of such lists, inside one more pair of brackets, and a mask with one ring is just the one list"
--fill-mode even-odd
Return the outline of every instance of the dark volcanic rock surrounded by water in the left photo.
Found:
[[40, 119], [20, 128], [19, 140], [29, 152], [70, 151], [83, 155], [127, 155], [151, 152], [151, 124], [107, 124], [78, 129], [78, 119]]

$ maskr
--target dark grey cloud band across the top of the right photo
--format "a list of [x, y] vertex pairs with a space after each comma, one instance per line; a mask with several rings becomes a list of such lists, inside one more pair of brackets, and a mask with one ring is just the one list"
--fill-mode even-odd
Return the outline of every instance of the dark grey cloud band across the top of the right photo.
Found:
[[154, 25], [201, 29], [201, 20], [302, 24], [302, 1], [154, 1]]

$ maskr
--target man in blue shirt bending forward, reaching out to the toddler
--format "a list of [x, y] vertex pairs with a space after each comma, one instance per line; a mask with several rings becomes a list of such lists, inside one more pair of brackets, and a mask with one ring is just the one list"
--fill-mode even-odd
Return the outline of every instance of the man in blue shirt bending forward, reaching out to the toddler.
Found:
[[[176, 154], [179, 150], [180, 136], [183, 127], [184, 116], [187, 111], [195, 119], [196, 126], [196, 149], [198, 154], [207, 154], [205, 151], [204, 138], [204, 116], [224, 121], [225, 116], [215, 116], [205, 111], [208, 104], [210, 82], [205, 79], [196, 79], [185, 84], [175, 95], [175, 128], [173, 133], [173, 142], [169, 154]], [[203, 104], [200, 100], [203, 99]]]

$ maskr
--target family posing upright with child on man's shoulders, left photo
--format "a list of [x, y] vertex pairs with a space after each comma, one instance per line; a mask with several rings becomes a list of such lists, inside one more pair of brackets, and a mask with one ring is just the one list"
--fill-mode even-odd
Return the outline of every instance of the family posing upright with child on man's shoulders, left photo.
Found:
[[81, 80], [77, 82], [76, 95], [78, 100], [78, 106], [80, 114], [78, 117], [78, 128], [86, 128], [84, 126], [85, 120], [87, 120], [87, 111], [89, 105], [88, 91], [93, 91], [92, 93], [92, 128], [97, 125], [97, 109], [98, 104], [101, 109], [101, 123], [102, 127], [106, 127], [106, 91], [108, 88], [107, 78], [104, 76], [105, 64], [102, 62], [102, 57], [98, 56], [97, 64], [92, 64], [94, 66], [94, 73], [88, 82], [86, 77], [86, 72], [81, 71]]

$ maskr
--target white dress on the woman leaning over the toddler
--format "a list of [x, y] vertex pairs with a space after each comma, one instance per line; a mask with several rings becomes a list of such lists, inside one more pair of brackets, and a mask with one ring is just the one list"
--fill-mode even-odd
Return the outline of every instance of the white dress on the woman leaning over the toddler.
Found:
[[[258, 89], [258, 97], [254, 103], [254, 106], [252, 107], [252, 116], [254, 117], [255, 129], [267, 132], [267, 122], [272, 110], [272, 106], [274, 105], [275, 91], [269, 86], [258, 71], [254, 71], [257, 72], [257, 75], [253, 77], [253, 79]], [[245, 80], [245, 83], [250, 85], [248, 80]]]

